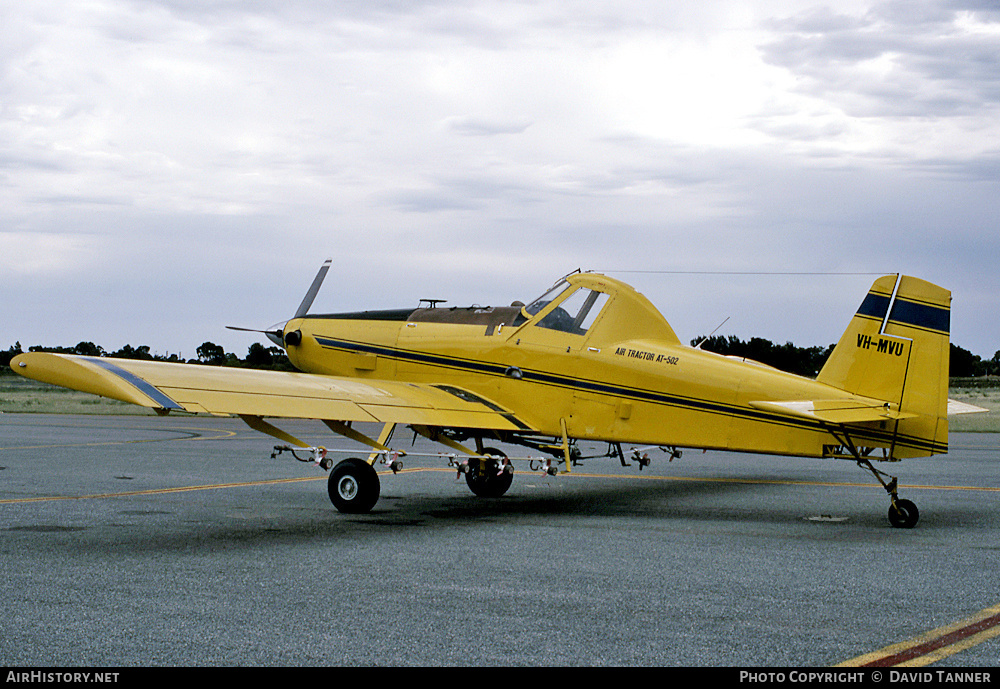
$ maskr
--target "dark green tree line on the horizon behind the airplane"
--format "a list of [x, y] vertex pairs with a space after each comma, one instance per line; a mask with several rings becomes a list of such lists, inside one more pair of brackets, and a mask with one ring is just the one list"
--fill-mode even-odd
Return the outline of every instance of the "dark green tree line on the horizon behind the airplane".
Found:
[[[797, 347], [791, 342], [775, 344], [760, 337], [741, 340], [735, 335], [713, 335], [707, 338], [696, 338], [692, 346], [717, 354], [745, 357], [773, 366], [788, 373], [795, 373], [809, 378], [815, 377], [826, 362], [834, 345], [828, 347]], [[115, 352], [105, 351], [103, 347], [93, 342], [80, 342], [75, 347], [42, 347], [28, 348], [29, 352], [57, 352], [64, 354], [79, 354], [81, 356], [118, 357], [122, 359], [145, 359], [149, 361], [171, 361], [177, 363], [204, 364], [207, 366], [236, 366], [244, 368], [263, 368], [280, 371], [294, 371], [285, 351], [280, 347], [265, 347], [254, 342], [247, 350], [244, 358], [239, 358], [232, 352], [227, 352], [221, 345], [214, 342], [204, 342], [195, 350], [197, 359], [181, 359], [177, 354], [166, 356], [150, 353], [146, 345], [132, 347], [125, 345]], [[23, 353], [21, 343], [17, 342], [6, 351], [0, 351], [0, 365], [9, 366], [10, 360]], [[951, 345], [951, 377], [971, 378], [1000, 375], [1000, 351], [992, 359], [982, 359], [954, 343]]]

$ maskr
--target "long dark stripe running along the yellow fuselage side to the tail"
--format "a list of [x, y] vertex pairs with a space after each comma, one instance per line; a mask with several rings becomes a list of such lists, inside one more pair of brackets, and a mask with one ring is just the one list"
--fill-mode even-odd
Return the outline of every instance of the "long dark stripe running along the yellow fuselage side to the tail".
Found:
[[[321, 346], [326, 347], [328, 349], [340, 349], [351, 352], [371, 353], [386, 358], [396, 359], [398, 361], [410, 361], [428, 366], [440, 366], [443, 368], [471, 371], [485, 375], [502, 376], [505, 374], [505, 371], [507, 370], [506, 366], [502, 366], [499, 364], [490, 364], [482, 361], [475, 361], [472, 359], [458, 359], [438, 354], [426, 354], [423, 352], [415, 352], [405, 349], [396, 349], [393, 347], [383, 347], [361, 342], [351, 342], [349, 340], [335, 340], [328, 337], [316, 336], [316, 341]], [[810, 431], [820, 431], [823, 433], [829, 432], [829, 428], [827, 427], [827, 425], [818, 421], [799, 419], [791, 416], [774, 414], [748, 407], [737, 407], [733, 405], [723, 404], [719, 402], [710, 402], [707, 400], [701, 400], [696, 398], [679, 397], [677, 395], [670, 395], [663, 392], [657, 392], [655, 390], [644, 390], [642, 388], [626, 388], [611, 383], [603, 383], [600, 381], [587, 380], [583, 378], [571, 378], [569, 376], [544, 373], [542, 371], [533, 371], [531, 369], [522, 369], [521, 373], [522, 373], [521, 380], [539, 383], [542, 385], [552, 385], [556, 387], [569, 388], [572, 390], [581, 390], [587, 392], [614, 395], [617, 397], [629, 398], [644, 402], [652, 402], [655, 404], [665, 404], [669, 406], [682, 407], [710, 414], [737, 416], [749, 419], [751, 421], [760, 421], [764, 423], [772, 423], [782, 426], [792, 426], [795, 428], [800, 428]], [[928, 441], [919, 437], [898, 436], [893, 431], [880, 431], [878, 429], [873, 429], [873, 428], [865, 428], [865, 429], [855, 428], [854, 434], [858, 439], [863, 438], [882, 443], [896, 442], [897, 444], [905, 444], [906, 446], [912, 447], [914, 449], [926, 450], [933, 453], [947, 452], [947, 446], [942, 446], [933, 441]]]

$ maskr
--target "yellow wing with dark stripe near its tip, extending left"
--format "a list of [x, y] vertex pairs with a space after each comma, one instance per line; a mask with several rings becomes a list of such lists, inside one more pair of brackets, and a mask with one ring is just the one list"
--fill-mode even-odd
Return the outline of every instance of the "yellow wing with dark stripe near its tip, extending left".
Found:
[[157, 411], [530, 430], [493, 402], [450, 385], [47, 352], [18, 355], [11, 368]]

